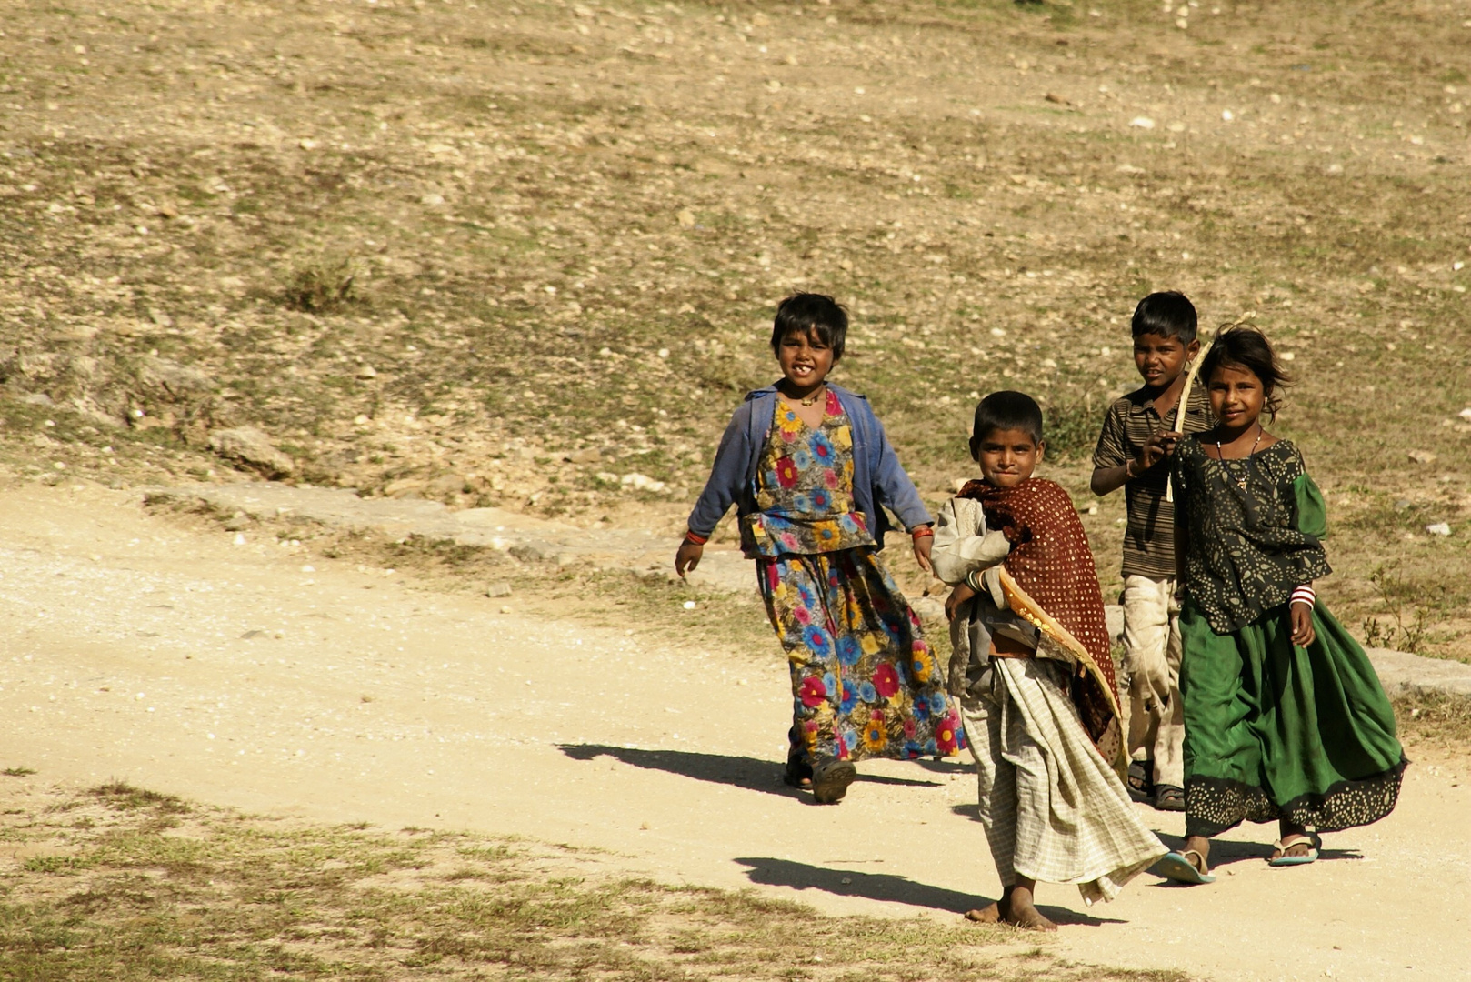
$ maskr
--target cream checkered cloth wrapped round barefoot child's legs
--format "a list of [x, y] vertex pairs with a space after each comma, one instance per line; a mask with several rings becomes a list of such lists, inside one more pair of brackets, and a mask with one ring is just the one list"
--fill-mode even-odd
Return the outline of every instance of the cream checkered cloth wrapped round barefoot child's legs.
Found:
[[1118, 897], [1168, 849], [1089, 741], [1068, 674], [1049, 658], [991, 658], [990, 685], [961, 701], [961, 718], [1002, 885], [1077, 883], [1093, 904]]

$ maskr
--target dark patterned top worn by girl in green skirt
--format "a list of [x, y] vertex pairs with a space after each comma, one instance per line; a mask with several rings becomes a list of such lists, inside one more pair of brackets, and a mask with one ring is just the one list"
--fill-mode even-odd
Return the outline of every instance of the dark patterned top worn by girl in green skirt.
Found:
[[1190, 536], [1186, 593], [1215, 633], [1250, 624], [1286, 604], [1294, 587], [1333, 571], [1318, 543], [1327, 531], [1322, 492], [1290, 440], [1240, 461], [1215, 461], [1197, 437], [1186, 437], [1171, 476]]

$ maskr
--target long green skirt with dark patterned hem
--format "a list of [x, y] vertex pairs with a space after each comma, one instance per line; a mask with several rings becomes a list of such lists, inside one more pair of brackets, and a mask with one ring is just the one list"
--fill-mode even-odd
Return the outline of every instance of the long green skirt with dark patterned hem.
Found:
[[1292, 643], [1287, 605], [1230, 635], [1180, 612], [1186, 833], [1287, 820], [1318, 832], [1395, 810], [1405, 751], [1368, 655], [1319, 604]]

